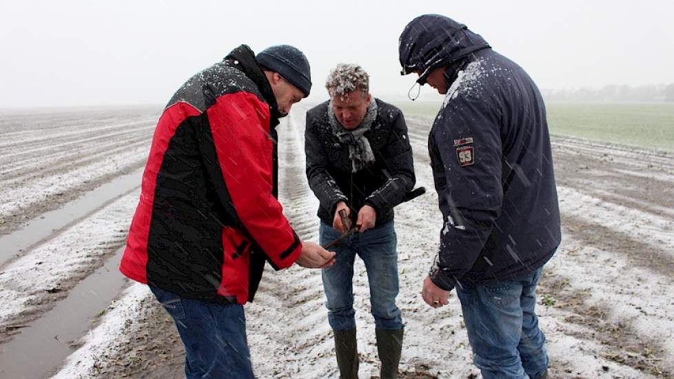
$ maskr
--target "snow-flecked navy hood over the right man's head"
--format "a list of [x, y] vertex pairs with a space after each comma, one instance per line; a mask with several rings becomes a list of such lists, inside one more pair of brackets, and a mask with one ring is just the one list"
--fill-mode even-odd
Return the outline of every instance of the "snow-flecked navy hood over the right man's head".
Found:
[[424, 14], [410, 21], [400, 34], [400, 74], [421, 72], [418, 83], [426, 83], [431, 71], [453, 65], [478, 50], [491, 48], [466, 25], [440, 14]]

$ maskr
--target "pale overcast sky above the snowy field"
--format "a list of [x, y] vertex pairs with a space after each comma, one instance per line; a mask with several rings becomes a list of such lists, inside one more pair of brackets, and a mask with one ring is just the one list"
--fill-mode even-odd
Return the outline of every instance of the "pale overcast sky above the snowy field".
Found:
[[674, 1], [0, 0], [0, 107], [163, 104], [241, 43], [303, 50], [315, 101], [339, 62], [360, 63], [375, 96], [406, 96], [398, 37], [424, 13], [468, 25], [540, 88], [674, 83]]

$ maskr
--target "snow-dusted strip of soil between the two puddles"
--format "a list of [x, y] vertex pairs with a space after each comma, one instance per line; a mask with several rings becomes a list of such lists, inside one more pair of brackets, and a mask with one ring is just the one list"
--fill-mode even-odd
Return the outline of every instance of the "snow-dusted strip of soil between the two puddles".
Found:
[[[125, 243], [128, 215], [137, 201], [136, 192], [123, 196], [5, 265], [0, 274], [0, 330], [37, 318], [100, 267]], [[0, 342], [10, 336], [0, 334]]]

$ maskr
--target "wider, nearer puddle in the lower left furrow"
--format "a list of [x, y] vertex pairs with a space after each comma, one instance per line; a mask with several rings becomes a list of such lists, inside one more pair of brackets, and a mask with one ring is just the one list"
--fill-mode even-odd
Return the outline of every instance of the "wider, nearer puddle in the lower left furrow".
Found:
[[70, 290], [68, 296], [44, 316], [31, 322], [6, 344], [0, 345], [1, 378], [46, 378], [75, 349], [91, 321], [110, 305], [127, 283], [117, 271], [124, 247], [105, 265]]

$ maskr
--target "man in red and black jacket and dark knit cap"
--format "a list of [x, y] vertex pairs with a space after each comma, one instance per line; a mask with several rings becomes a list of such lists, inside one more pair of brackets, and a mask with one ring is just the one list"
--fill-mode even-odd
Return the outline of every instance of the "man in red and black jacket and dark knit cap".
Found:
[[299, 240], [276, 200], [275, 127], [309, 95], [310, 78], [292, 46], [256, 57], [241, 45], [188, 80], [159, 119], [119, 269], [174, 318], [187, 378], [254, 377], [243, 304], [265, 261], [334, 262]]

